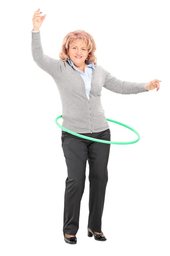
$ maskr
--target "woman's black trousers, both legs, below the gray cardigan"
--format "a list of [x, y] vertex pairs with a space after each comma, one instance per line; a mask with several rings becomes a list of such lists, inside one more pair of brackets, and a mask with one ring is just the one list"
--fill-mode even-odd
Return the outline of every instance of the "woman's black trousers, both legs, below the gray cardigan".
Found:
[[[82, 135], [111, 140], [110, 129]], [[63, 233], [76, 235], [79, 229], [80, 202], [85, 188], [87, 160], [90, 182], [88, 227], [100, 233], [111, 144], [86, 140], [66, 131], [62, 131], [61, 140], [68, 172], [65, 180]]]

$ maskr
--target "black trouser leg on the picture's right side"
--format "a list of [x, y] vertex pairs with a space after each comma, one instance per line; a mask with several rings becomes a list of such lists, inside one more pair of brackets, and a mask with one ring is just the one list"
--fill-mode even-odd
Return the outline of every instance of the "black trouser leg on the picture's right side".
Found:
[[[96, 133], [96, 139], [111, 140], [110, 129]], [[108, 159], [111, 144], [93, 142], [88, 146], [89, 217], [88, 227], [101, 232], [105, 191], [108, 183]]]

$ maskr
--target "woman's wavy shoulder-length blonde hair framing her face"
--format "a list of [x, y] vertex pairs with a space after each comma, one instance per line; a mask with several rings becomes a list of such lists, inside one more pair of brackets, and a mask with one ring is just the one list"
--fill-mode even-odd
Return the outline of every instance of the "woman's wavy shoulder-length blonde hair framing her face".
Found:
[[88, 47], [88, 61], [93, 61], [94, 66], [97, 65], [97, 58], [94, 55], [96, 52], [96, 44], [94, 42], [94, 38], [92, 35], [90, 35], [88, 32], [85, 32], [82, 29], [75, 30], [73, 32], [69, 32], [67, 35], [65, 35], [63, 41], [62, 41], [62, 47], [61, 51], [59, 52], [59, 58], [62, 61], [68, 61], [69, 55], [67, 54], [68, 49], [71, 45], [71, 43], [77, 39], [82, 39]]

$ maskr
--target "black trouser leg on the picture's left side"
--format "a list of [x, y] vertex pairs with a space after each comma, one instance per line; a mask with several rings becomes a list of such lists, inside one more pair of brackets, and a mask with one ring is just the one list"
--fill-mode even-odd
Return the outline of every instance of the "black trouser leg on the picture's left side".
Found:
[[[88, 148], [81, 138], [62, 133], [62, 149], [67, 165], [65, 180], [63, 233], [76, 235], [79, 229], [80, 202], [85, 188]], [[85, 141], [85, 140], [84, 140]]]

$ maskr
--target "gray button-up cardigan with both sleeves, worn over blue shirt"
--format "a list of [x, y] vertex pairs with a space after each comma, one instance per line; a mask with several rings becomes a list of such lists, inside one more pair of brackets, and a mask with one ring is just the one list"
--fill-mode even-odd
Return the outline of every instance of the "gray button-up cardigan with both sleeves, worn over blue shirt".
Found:
[[[68, 61], [45, 55], [42, 49], [40, 30], [32, 33], [31, 51], [33, 60], [54, 79], [62, 103], [62, 126], [76, 133], [92, 133], [109, 128], [100, 99], [102, 87], [114, 93], [137, 94], [146, 92], [146, 83], [121, 81], [103, 67], [92, 69], [89, 100], [85, 82], [80, 73]], [[60, 115], [60, 113], [59, 113]]]

